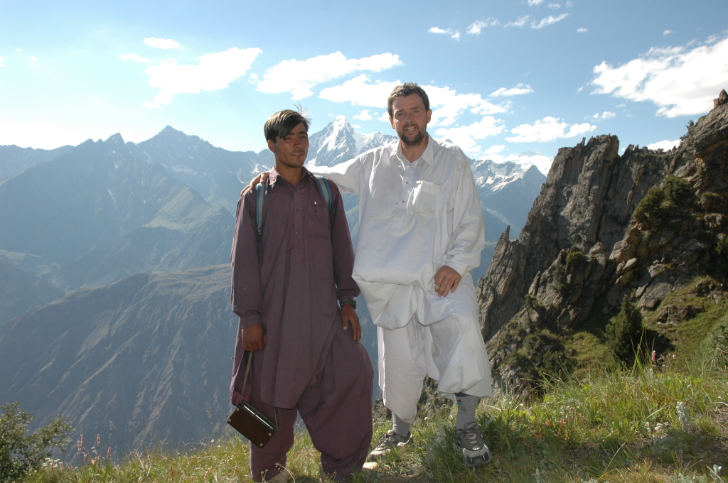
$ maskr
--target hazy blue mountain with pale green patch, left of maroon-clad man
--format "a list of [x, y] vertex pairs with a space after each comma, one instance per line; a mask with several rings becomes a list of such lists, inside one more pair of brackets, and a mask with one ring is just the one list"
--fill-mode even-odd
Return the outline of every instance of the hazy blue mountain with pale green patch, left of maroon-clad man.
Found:
[[233, 224], [226, 209], [137, 159], [120, 135], [0, 183], [0, 248], [57, 263], [42, 276], [65, 290], [224, 263]]

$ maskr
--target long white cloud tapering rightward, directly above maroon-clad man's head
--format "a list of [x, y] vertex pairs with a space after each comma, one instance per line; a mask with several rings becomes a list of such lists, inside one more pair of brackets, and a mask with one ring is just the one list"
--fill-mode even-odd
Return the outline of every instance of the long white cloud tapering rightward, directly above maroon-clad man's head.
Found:
[[400, 57], [390, 53], [347, 59], [341, 52], [334, 52], [306, 60], [283, 60], [266, 70], [258, 90], [270, 94], [290, 92], [293, 100], [299, 100], [312, 95], [311, 89], [322, 82], [356, 71], [380, 72], [395, 65], [402, 65]]

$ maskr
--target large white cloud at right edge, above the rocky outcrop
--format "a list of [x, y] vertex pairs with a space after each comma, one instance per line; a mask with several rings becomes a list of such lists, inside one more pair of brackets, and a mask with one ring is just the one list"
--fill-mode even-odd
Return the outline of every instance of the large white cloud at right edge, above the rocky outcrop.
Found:
[[617, 68], [602, 62], [594, 74], [595, 94], [649, 101], [658, 116], [705, 113], [728, 83], [728, 38], [693, 49], [653, 47]]

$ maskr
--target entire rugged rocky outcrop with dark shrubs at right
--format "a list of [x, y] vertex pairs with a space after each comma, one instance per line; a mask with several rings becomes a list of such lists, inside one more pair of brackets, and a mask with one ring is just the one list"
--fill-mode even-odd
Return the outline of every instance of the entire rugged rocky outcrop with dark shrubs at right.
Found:
[[[722, 99], [722, 100], [721, 100]], [[518, 240], [503, 233], [478, 283], [496, 386], [528, 386], [558, 340], [623, 297], [643, 311], [695, 276], [728, 276], [728, 95], [681, 145], [602, 135], [558, 151]], [[529, 369], [530, 368], [530, 369]]]

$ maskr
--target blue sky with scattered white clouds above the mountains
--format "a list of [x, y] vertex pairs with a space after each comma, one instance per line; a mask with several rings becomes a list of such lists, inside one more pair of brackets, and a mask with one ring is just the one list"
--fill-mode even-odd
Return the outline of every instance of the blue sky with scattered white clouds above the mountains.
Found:
[[726, 19], [724, 0], [1, 0], [0, 145], [169, 124], [260, 151], [264, 121], [294, 104], [312, 132], [344, 115], [394, 134], [387, 94], [416, 81], [432, 135], [547, 172], [591, 135], [670, 147], [728, 87]]

